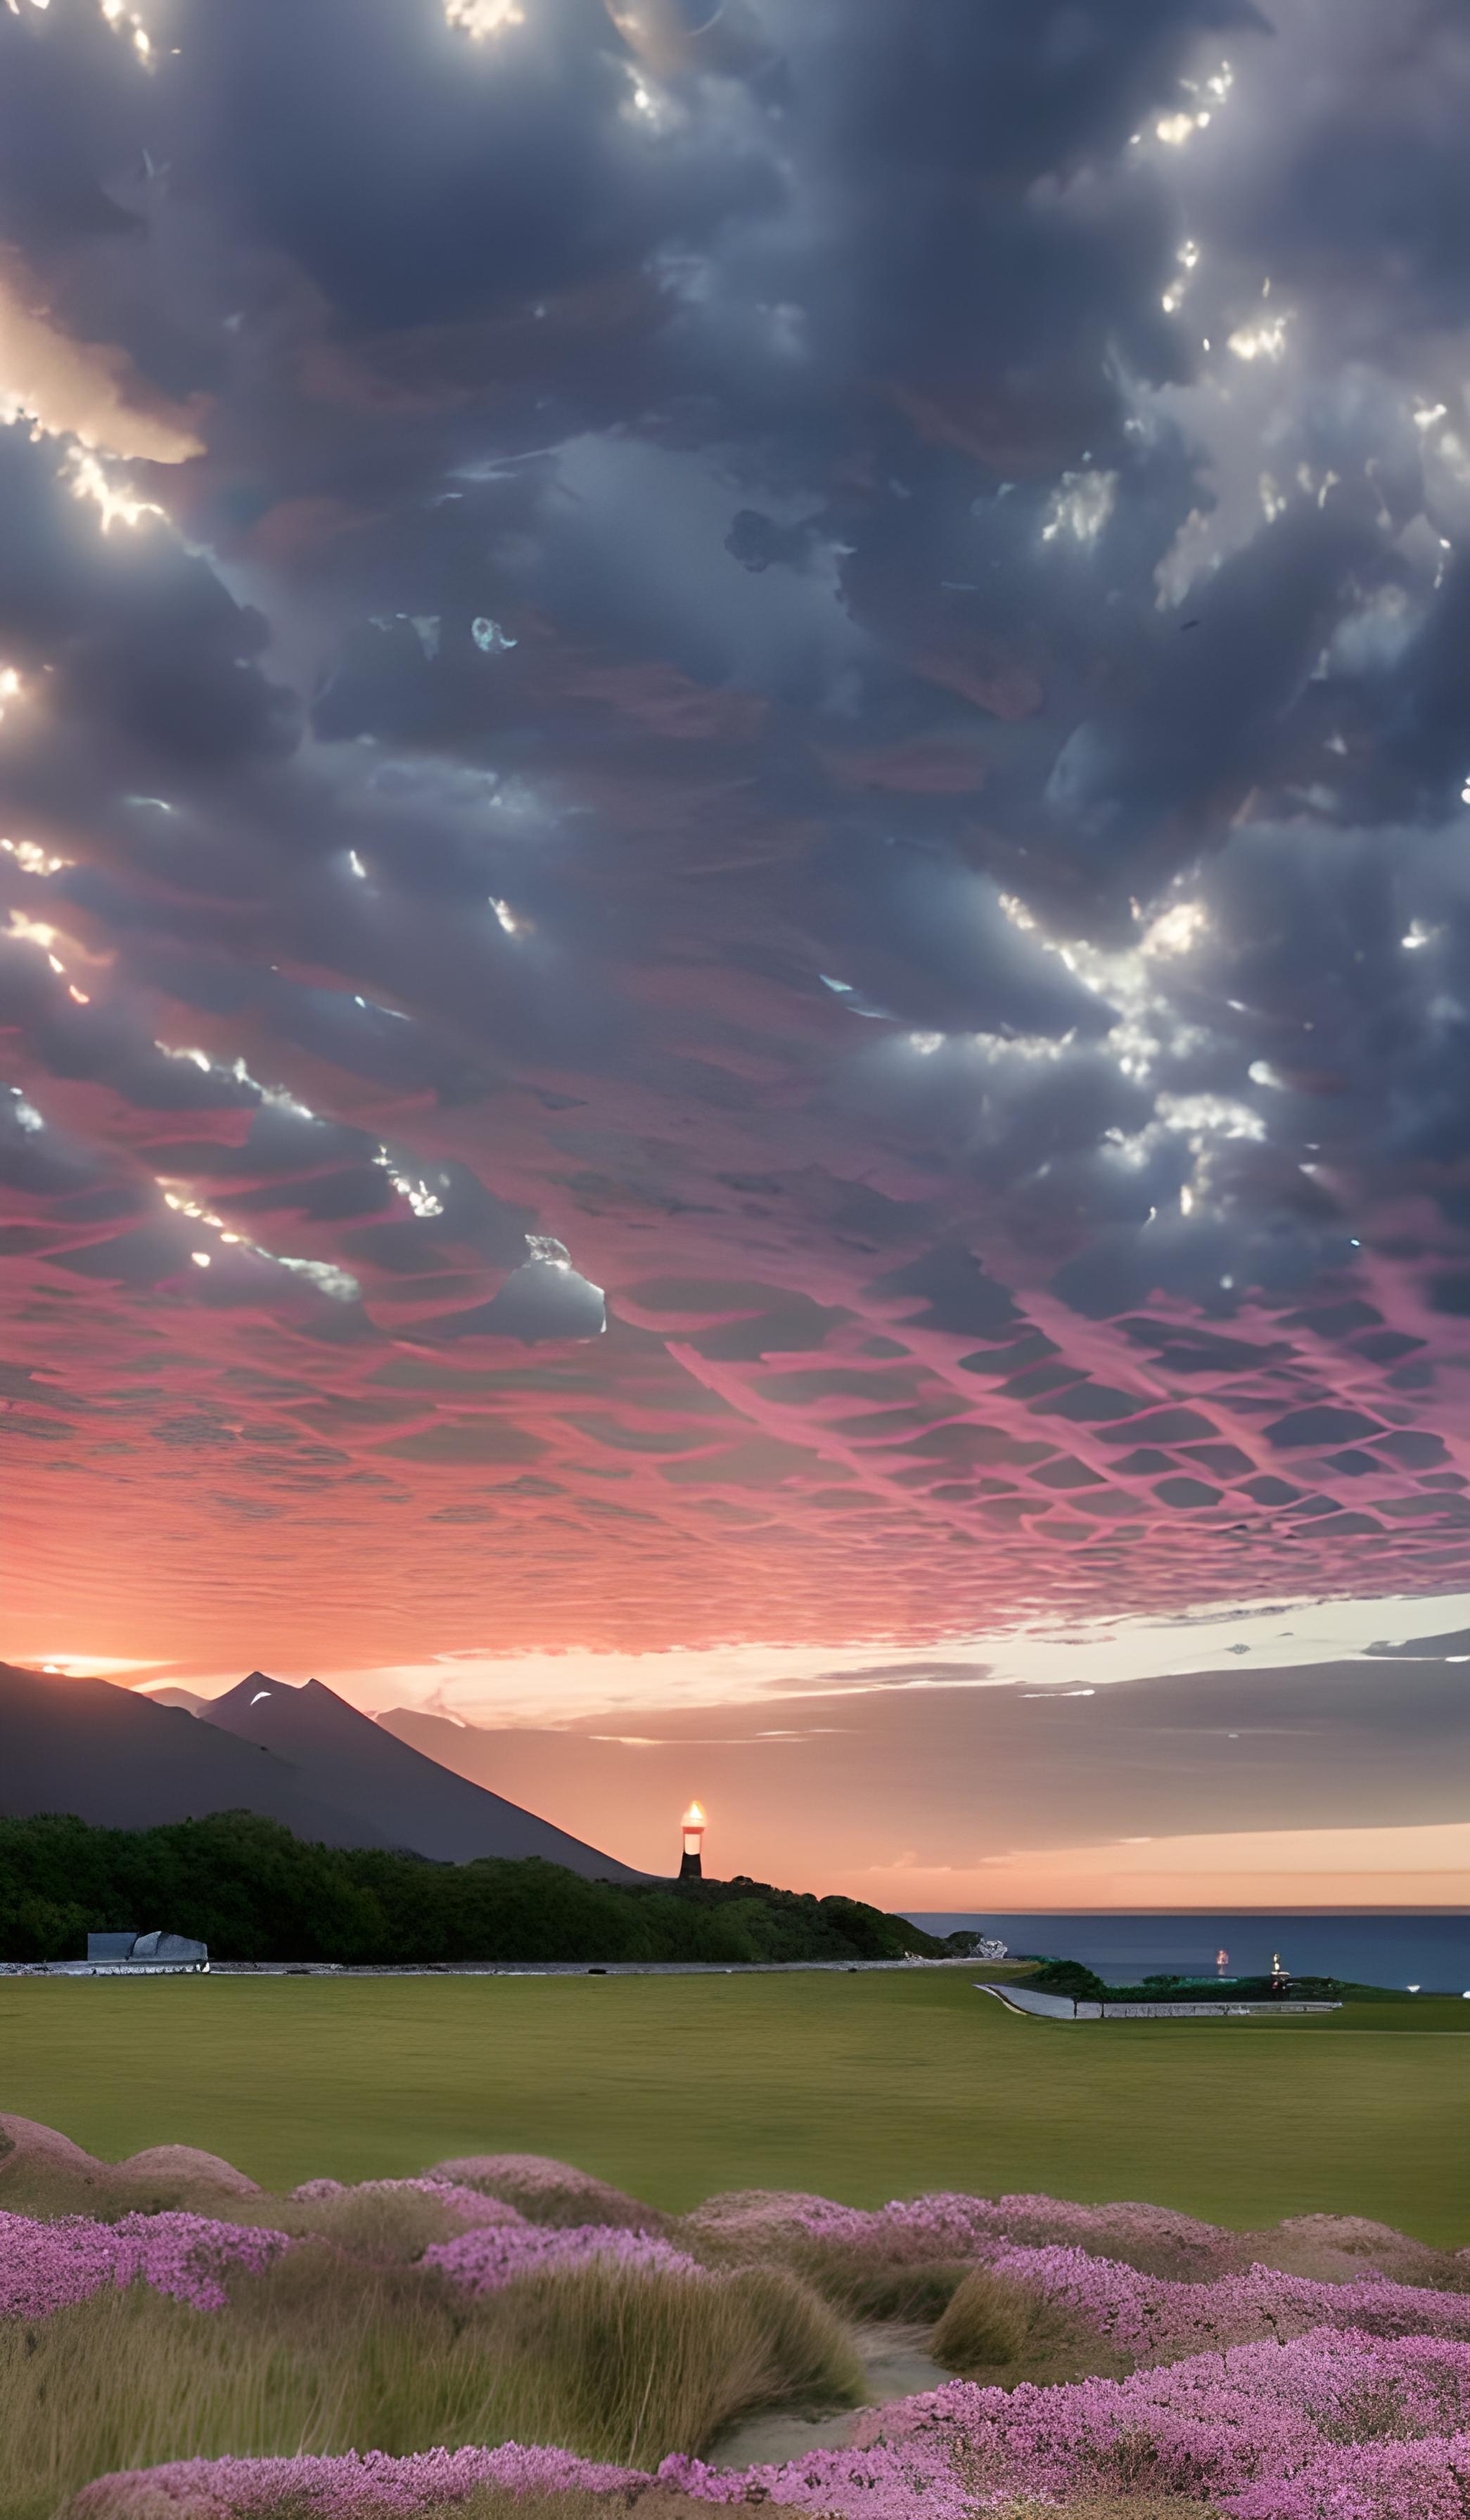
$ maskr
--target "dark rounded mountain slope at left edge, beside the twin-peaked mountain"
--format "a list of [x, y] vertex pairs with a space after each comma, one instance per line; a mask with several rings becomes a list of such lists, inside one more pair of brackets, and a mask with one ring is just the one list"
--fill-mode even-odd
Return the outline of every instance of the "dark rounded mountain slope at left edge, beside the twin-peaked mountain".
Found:
[[61, 1681], [0, 1663], [0, 1814], [76, 1812], [151, 1830], [207, 1812], [262, 1812], [328, 1847], [391, 1847], [396, 1830], [340, 1809], [270, 1749], [214, 1731], [111, 1681]]

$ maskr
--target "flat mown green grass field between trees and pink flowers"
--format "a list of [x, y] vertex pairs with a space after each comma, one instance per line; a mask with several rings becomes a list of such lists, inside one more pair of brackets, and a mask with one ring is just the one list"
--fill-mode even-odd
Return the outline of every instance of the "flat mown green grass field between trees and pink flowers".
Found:
[[719, 2187], [1362, 2213], [1470, 2243], [1470, 2006], [1041, 2024], [968, 1971], [782, 1978], [0, 1981], [0, 2107], [108, 2160], [282, 2190], [552, 2152], [681, 2210]]

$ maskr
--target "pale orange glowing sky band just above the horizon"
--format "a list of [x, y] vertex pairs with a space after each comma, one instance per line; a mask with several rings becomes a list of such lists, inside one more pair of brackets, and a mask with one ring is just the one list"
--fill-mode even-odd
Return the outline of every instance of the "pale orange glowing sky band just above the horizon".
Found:
[[[1417, 1605], [1417, 1625], [1462, 1615], [1462, 1608], [1470, 1603]], [[1319, 1608], [1319, 1625], [1306, 1628], [1299, 1613], [1299, 1653], [1321, 1661], [1341, 1653], [1336, 1623], [1346, 1615], [1351, 1605], [1336, 1605], [1331, 1618]], [[1382, 1625], [1392, 1633], [1409, 1620], [1384, 1605]], [[232, 1656], [227, 1671], [217, 1661], [169, 1668], [166, 1656], [141, 1651], [149, 1638], [108, 1643], [131, 1643], [134, 1656], [10, 1648], [8, 1658], [30, 1668], [63, 1666], [55, 1673], [63, 1681], [106, 1678], [141, 1696], [184, 1683], [202, 1698], [234, 1686], [250, 1663], [277, 1668], [287, 1681], [313, 1668], [303, 1656]], [[1127, 1696], [1127, 1678], [1157, 1671], [1165, 1658], [1178, 1668], [1180, 1648], [1193, 1651], [1200, 1668], [1220, 1651], [1218, 1641], [1198, 1635], [1185, 1646], [1178, 1628], [1162, 1638], [1145, 1628], [1099, 1630], [1094, 1641], [1074, 1635], [1067, 1641], [1067, 1688], [1056, 1688], [1072, 1696], [1087, 1668], [1087, 1681], [1097, 1681], [1087, 1691], [1092, 1704], [1114, 1688]], [[1036, 1693], [1041, 1666], [1056, 1663], [1056, 1646], [996, 1638], [986, 1641], [986, 1656], [973, 1686], [910, 1683], [900, 1696], [888, 1671], [862, 1668], [867, 1656], [857, 1648], [819, 1656], [754, 1643], [663, 1656], [441, 1653], [419, 1666], [340, 1671], [325, 1661], [315, 1668], [363, 1714], [434, 1719], [434, 1734], [416, 1739], [429, 1756], [645, 1870], [661, 1867], [668, 1799], [678, 1792], [678, 1769], [688, 1772], [691, 1741], [701, 1741], [698, 1759], [714, 1761], [724, 1794], [721, 1870], [817, 1895], [842, 1893], [885, 1910], [1455, 1913], [1470, 1903], [1470, 1824], [1427, 1814], [1387, 1827], [1331, 1827], [1326, 1814], [1304, 1807], [1293, 1827], [1251, 1830], [1246, 1802], [1238, 1819], [1200, 1812], [1195, 1827], [1183, 1819], [1155, 1837], [1125, 1837], [1125, 1830], [1147, 1827], [1147, 1817], [1117, 1812], [1062, 1835], [1046, 1824], [1056, 1817], [1051, 1807], [1026, 1797], [981, 1817], [968, 1794], [946, 1794], [943, 1777], [956, 1777], [963, 1741], [976, 1724], [991, 1721], [988, 1709], [998, 1721], [1011, 1691]], [[920, 1744], [928, 1744], [923, 1754]], [[706, 1830], [698, 1799], [688, 1802], [681, 1827], [691, 1837], [686, 1852], [696, 1852]]]

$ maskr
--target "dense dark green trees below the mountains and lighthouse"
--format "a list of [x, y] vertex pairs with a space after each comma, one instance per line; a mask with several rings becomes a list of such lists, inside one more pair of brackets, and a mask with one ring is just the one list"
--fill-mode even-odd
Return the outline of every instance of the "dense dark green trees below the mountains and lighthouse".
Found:
[[0, 1958], [171, 1933], [217, 1961], [885, 1961], [943, 1945], [860, 1900], [764, 1882], [615, 1885], [557, 1865], [434, 1865], [305, 1845], [255, 1812], [164, 1830], [0, 1819]]

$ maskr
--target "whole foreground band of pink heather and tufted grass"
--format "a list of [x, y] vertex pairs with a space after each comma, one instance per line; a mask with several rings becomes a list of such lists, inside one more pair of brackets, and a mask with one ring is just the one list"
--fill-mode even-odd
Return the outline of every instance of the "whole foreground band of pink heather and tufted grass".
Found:
[[[956, 2190], [668, 2215], [540, 2155], [270, 2195], [179, 2145], [103, 2162], [0, 2127], [0, 2520], [1465, 2507], [1470, 2253], [1357, 2215], [1241, 2235]], [[918, 2268], [943, 2296], [903, 2394], [860, 2263], [870, 2303]]]

